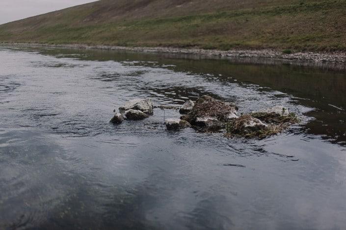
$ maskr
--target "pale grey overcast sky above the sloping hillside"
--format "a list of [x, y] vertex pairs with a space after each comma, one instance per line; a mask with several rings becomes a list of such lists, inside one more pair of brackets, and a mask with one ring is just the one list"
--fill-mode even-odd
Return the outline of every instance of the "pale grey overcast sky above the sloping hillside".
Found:
[[95, 0], [0, 0], [0, 24]]

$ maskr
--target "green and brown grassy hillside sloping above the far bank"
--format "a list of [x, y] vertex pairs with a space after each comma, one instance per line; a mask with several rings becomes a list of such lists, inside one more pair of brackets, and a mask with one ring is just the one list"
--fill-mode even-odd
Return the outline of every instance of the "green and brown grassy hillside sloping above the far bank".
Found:
[[0, 42], [346, 50], [346, 0], [101, 0], [0, 25]]

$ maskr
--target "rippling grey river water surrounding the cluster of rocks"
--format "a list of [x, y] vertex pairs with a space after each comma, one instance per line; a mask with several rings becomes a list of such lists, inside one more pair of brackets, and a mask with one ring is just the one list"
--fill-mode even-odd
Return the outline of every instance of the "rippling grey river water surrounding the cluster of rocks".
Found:
[[[302, 121], [263, 140], [167, 131], [174, 110], [109, 123], [204, 94]], [[0, 229], [345, 229], [345, 110], [327, 67], [0, 46]]]

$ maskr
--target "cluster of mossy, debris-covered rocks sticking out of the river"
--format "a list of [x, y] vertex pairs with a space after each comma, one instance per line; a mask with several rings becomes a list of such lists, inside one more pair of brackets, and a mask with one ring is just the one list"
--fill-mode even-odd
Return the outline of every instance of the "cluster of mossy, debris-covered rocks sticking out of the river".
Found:
[[[164, 106], [161, 109], [176, 109], [176, 107]], [[116, 113], [110, 122], [120, 124], [124, 119], [141, 120], [153, 115], [153, 101], [133, 99], [120, 107], [119, 111], [120, 113]], [[180, 119], [165, 119], [167, 130], [192, 127], [204, 132], [215, 132], [226, 129], [228, 137], [265, 138], [298, 122], [296, 116], [283, 106], [239, 116], [235, 104], [210, 96], [202, 96], [196, 102], [187, 100], [179, 112], [183, 114]]]

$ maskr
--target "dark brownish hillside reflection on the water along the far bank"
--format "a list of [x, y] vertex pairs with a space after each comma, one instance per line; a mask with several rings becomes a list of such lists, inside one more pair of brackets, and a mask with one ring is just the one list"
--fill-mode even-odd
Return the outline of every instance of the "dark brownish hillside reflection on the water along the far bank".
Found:
[[[58, 53], [60, 57], [64, 57], [61, 52], [71, 55], [76, 51], [66, 49], [41, 50], [42, 54], [56, 55]], [[254, 60], [248, 59], [201, 60], [193, 55], [153, 55], [100, 50], [79, 52], [85, 54], [79, 57], [83, 60], [115, 60], [130, 66], [166, 68], [176, 72], [201, 75], [203, 82], [209, 81], [226, 86], [237, 84], [237, 86], [243, 87], [255, 84], [256, 90], [259, 91], [284, 92], [292, 96], [292, 103], [313, 108], [306, 115], [314, 117], [316, 120], [307, 124], [305, 129], [307, 133], [322, 135], [336, 143], [346, 143], [346, 97], [344, 96], [346, 93], [346, 74], [344, 70], [338, 70], [337, 64], [322, 63], [319, 67], [309, 67], [273, 60], [257, 60], [257, 63], [256, 61], [254, 63]], [[264, 61], [266, 65], [262, 64]], [[311, 64], [307, 63], [307, 65]], [[143, 73], [137, 75], [141, 74]], [[184, 83], [182, 82], [182, 85]], [[185, 90], [188, 94], [182, 95], [183, 98], [179, 98], [175, 94], [170, 95], [169, 92], [175, 92], [176, 89], [172, 89], [169, 84], [165, 84], [165, 88], [162, 85], [156, 85], [154, 89], [148, 88], [148, 90], [154, 90], [159, 94], [162, 93], [157, 92], [159, 89], [165, 91], [167, 93], [165, 96], [176, 97], [178, 103], [181, 103], [185, 97], [195, 98], [201, 94], [220, 97], [219, 92], [206, 92], [203, 88], [205, 83], [199, 84], [197, 79], [195, 83], [194, 88]], [[184, 92], [184, 90], [178, 89], [177, 92]], [[231, 99], [234, 100], [237, 96], [235, 94]]]

